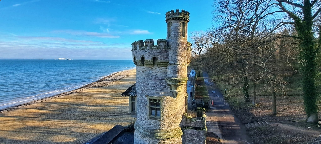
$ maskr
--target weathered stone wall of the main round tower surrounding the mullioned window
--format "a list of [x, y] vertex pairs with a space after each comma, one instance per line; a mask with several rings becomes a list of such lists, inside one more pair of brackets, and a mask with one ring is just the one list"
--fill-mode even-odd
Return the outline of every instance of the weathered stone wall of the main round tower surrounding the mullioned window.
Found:
[[[185, 95], [179, 95], [176, 99], [170, 96], [172, 93], [165, 80], [166, 73], [167, 67], [136, 66], [137, 121], [135, 129], [137, 132], [135, 132], [135, 138], [157, 137], [157, 134], [153, 133], [157, 129], [168, 131], [171, 134], [173, 129], [179, 128], [184, 112]], [[186, 85], [183, 86], [184, 88], [186, 89]], [[162, 116], [160, 120], [148, 118], [148, 96], [161, 98]], [[177, 133], [181, 139], [181, 134], [179, 135], [181, 130], [179, 129]]]

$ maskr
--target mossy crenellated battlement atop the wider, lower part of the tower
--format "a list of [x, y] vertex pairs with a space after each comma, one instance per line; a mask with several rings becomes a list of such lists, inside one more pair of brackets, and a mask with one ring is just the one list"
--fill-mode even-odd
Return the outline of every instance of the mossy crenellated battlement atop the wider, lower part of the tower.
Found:
[[[145, 45], [144, 45], [144, 43], [145, 43]], [[167, 40], [166, 39], [158, 39], [157, 45], [154, 45], [153, 39], [146, 39], [145, 41], [138, 40], [132, 44], [132, 47], [133, 47], [132, 51], [135, 51], [135, 50], [167, 50], [167, 49], [169, 49], [169, 47], [167, 47]]]

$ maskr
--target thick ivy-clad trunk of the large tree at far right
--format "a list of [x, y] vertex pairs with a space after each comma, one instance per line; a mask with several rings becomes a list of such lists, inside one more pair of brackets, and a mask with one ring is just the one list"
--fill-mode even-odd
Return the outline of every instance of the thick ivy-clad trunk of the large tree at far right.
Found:
[[303, 79], [303, 99], [305, 111], [308, 116], [308, 123], [317, 123], [317, 87], [315, 78], [316, 72], [316, 49], [314, 43], [314, 36], [312, 32], [313, 18], [311, 13], [310, 1], [303, 2], [303, 15], [304, 21], [295, 20], [295, 28], [298, 35], [302, 38], [300, 41], [302, 59], [305, 60], [302, 65], [302, 79]]

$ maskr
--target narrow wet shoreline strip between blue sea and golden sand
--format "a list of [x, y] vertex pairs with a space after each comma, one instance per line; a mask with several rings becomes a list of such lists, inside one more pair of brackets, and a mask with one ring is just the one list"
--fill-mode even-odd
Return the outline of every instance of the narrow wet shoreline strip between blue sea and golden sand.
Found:
[[55, 94], [55, 95], [52, 95], [52, 96], [48, 96], [48, 97], [45, 97], [45, 98], [40, 98], [38, 100], [31, 100], [31, 101], [28, 101], [26, 103], [22, 103], [22, 104], [18, 104], [18, 105], [14, 105], [14, 106], [10, 106], [10, 107], [7, 107], [7, 108], [3, 108], [3, 109], [0, 109], [0, 113], [3, 113], [5, 111], [8, 111], [8, 110], [13, 110], [13, 109], [16, 109], [16, 108], [21, 108], [21, 107], [24, 107], [24, 106], [27, 106], [27, 105], [30, 105], [30, 104], [33, 104], [33, 103], [38, 103], [38, 102], [41, 102], [41, 101], [45, 101], [45, 100], [50, 100], [50, 99], [53, 99], [53, 98], [57, 98], [57, 97], [60, 97], [60, 96], [64, 96], [64, 95], [68, 95], [68, 94], [72, 94], [74, 92], [78, 92], [78, 91], [81, 91], [83, 89], [86, 89], [87, 87], [90, 87], [91, 85], [94, 85], [94, 84], [97, 84], [99, 82], [102, 82], [108, 78], [111, 78], [112, 76], [116, 75], [116, 74], [119, 74], [119, 73], [122, 73], [122, 72], [126, 72], [126, 71], [130, 71], [130, 70], [133, 70], [133, 69], [136, 69], [136, 68], [132, 68], [132, 69], [126, 69], [126, 70], [121, 70], [121, 71], [117, 71], [117, 72], [114, 72], [114, 73], [111, 73], [110, 75], [108, 76], [105, 76], [97, 81], [94, 81], [90, 84], [86, 84], [80, 88], [77, 88], [77, 89], [74, 89], [74, 90], [71, 90], [71, 91], [68, 91], [68, 92], [63, 92], [63, 93], [59, 93], [59, 94]]

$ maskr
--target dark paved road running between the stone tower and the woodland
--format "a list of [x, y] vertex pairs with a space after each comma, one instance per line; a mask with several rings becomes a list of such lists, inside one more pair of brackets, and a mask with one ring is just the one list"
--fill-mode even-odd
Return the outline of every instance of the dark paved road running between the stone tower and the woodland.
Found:
[[222, 93], [219, 90], [213, 89], [213, 81], [206, 72], [203, 72], [203, 76], [210, 98], [214, 101], [214, 108], [206, 111], [208, 131], [217, 134], [224, 144], [252, 144], [253, 142], [247, 136], [244, 124], [241, 124], [234, 117]]

